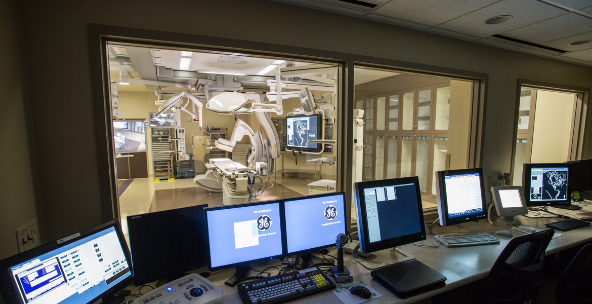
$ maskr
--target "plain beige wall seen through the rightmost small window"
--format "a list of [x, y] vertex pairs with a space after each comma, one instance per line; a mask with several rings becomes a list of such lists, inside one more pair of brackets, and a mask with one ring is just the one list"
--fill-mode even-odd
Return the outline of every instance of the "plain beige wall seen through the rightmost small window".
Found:
[[536, 92], [535, 128], [530, 162], [569, 161], [574, 94]]

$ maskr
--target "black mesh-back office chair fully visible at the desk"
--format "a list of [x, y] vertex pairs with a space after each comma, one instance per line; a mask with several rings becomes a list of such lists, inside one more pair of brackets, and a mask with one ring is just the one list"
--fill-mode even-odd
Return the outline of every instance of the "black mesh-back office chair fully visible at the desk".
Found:
[[548, 229], [511, 239], [485, 279], [485, 298], [490, 303], [536, 300], [545, 249], [554, 233]]

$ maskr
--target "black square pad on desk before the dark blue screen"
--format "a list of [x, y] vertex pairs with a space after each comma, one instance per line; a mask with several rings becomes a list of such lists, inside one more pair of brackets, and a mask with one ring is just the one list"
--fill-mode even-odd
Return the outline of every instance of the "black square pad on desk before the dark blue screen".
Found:
[[372, 279], [400, 298], [410, 297], [445, 286], [446, 277], [417, 260], [378, 268]]

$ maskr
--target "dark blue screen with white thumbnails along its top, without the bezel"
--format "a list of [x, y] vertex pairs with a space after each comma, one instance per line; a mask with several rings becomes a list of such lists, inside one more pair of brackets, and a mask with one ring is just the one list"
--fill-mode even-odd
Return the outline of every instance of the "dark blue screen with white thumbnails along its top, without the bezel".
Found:
[[363, 191], [369, 242], [422, 232], [415, 184], [366, 188]]

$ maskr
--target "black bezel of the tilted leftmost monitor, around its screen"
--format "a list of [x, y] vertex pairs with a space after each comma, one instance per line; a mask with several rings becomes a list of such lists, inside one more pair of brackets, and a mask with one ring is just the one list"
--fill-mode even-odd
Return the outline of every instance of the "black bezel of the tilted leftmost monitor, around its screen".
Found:
[[[117, 233], [117, 237], [119, 239], [121, 249], [123, 249], [123, 253], [126, 256], [126, 260], [128, 261], [127, 264], [128, 264], [128, 268], [130, 270], [130, 276], [127, 276], [126, 278], [121, 280], [119, 283], [114, 284], [113, 286], [111, 286], [110, 288], [105, 290], [105, 292], [103, 292], [101, 295], [96, 296], [94, 299], [86, 302], [86, 304], [95, 303], [99, 299], [107, 299], [108, 297], [117, 293], [119, 290], [126, 287], [131, 282], [131, 280], [133, 280], [133, 278], [134, 278], [132, 275], [133, 274], [133, 266], [131, 265], [130, 249], [127, 247], [127, 242], [126, 242], [126, 239], [124, 238], [123, 232], [121, 231], [121, 225], [120, 225], [119, 220], [112, 219], [112, 220], [109, 220], [108, 222], [102, 223], [101, 225], [97, 225], [92, 228], [88, 228], [88, 229], [85, 229], [81, 232], [75, 233], [73, 235], [66, 236], [66, 238], [57, 239], [57, 240], [54, 240], [51, 242], [47, 242], [46, 244], [40, 245], [38, 247], [34, 247], [32, 249], [29, 249], [28, 251], [21, 252], [20, 254], [13, 255], [12, 257], [8, 257], [8, 258], [5, 258], [4, 260], [1, 260], [0, 261], [0, 292], [2, 294], [2, 298], [4, 299], [4, 302], [5, 303], [24, 304], [24, 302], [22, 302], [20, 300], [20, 296], [17, 295], [17, 293], [15, 293], [17, 290], [17, 286], [14, 286], [14, 281], [12, 281], [12, 277], [11, 277], [12, 275], [11, 275], [11, 271], [10, 271], [11, 267], [13, 267], [14, 265], [23, 263], [25, 261], [31, 260], [33, 258], [36, 258], [39, 255], [42, 255], [46, 252], [53, 251], [53, 250], [58, 249], [60, 247], [65, 247], [69, 244], [72, 244], [73, 242], [79, 241], [82, 238], [86, 238], [86, 236], [90, 236], [94, 233], [104, 231], [105, 229], [108, 229], [111, 227], [115, 228], [115, 232]], [[67, 241], [60, 242], [64, 239], [67, 239]], [[83, 303], [81, 303], [81, 304], [83, 304]]]

